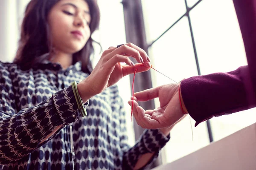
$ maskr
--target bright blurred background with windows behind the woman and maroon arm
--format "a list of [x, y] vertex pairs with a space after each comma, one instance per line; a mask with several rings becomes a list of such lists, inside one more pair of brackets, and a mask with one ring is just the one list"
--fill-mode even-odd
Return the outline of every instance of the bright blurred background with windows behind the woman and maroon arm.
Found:
[[[132, 42], [148, 52], [158, 71], [180, 80], [233, 71], [247, 65], [244, 45], [232, 0], [97, 0], [101, 11], [99, 30], [93, 38], [102, 49]], [[0, 60], [12, 62], [17, 50], [19, 28], [29, 0], [0, 0]], [[94, 64], [100, 48], [96, 46]], [[127, 129], [131, 145], [143, 129], [130, 121], [131, 77], [122, 79], [119, 91], [127, 110]], [[150, 70], [137, 74], [135, 91], [172, 83]], [[159, 106], [156, 100], [140, 103], [144, 108]], [[175, 161], [210, 142], [218, 141], [256, 122], [256, 109], [229, 116], [220, 116], [194, 127], [187, 116], [171, 131], [171, 140], [164, 147], [155, 165]], [[244, 116], [246, 114], [246, 116]], [[192, 140], [192, 130], [194, 138]]]

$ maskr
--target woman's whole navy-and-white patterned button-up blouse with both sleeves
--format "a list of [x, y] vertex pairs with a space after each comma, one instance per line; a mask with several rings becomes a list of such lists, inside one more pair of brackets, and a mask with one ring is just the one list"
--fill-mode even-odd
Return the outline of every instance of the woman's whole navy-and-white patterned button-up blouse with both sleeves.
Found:
[[79, 116], [71, 82], [87, 76], [80, 62], [66, 70], [43, 62], [27, 71], [0, 62], [0, 169], [120, 170], [132, 169], [145, 153], [154, 153], [147, 165], [157, 158], [169, 136], [145, 130], [129, 147], [129, 118], [116, 85], [93, 96], [87, 116]]

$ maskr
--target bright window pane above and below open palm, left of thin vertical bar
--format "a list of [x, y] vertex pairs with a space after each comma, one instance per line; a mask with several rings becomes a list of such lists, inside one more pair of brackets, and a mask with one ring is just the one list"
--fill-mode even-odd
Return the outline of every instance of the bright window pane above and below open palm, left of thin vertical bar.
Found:
[[[149, 55], [153, 68], [177, 82], [183, 78], [198, 75], [187, 17], [183, 17], [157, 40], [150, 48]], [[172, 83], [170, 79], [154, 70], [151, 70], [151, 75], [154, 87]], [[159, 107], [158, 100], [155, 103]], [[187, 116], [172, 129], [171, 140], [165, 147], [164, 162], [174, 161], [209, 144], [206, 123], [201, 123], [195, 128], [195, 122], [191, 121], [194, 140], [192, 141], [189, 116]]]

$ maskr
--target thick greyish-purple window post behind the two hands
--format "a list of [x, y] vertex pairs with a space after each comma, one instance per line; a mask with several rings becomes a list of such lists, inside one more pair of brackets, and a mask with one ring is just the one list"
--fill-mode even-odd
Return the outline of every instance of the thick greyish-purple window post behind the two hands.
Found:
[[[146, 53], [148, 53], [141, 0], [122, 0], [122, 4], [124, 8], [126, 41], [138, 45], [140, 48], [144, 49]], [[133, 58], [131, 58], [131, 60], [136, 62], [136, 60]], [[130, 75], [131, 85], [133, 76], [133, 74]], [[143, 91], [148, 88], [152, 88], [150, 71], [137, 73], [136, 81], [134, 82], [134, 91]], [[147, 102], [139, 102], [139, 105], [143, 107], [145, 110], [155, 108], [154, 100], [150, 100]], [[135, 119], [133, 119], [133, 121], [135, 139], [138, 140], [141, 134], [143, 133], [144, 129], [137, 125]], [[162, 159], [158, 157], [151, 165], [150, 169], [162, 164], [161, 160]]]

